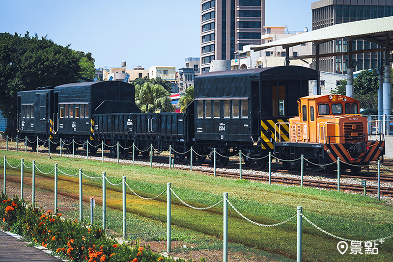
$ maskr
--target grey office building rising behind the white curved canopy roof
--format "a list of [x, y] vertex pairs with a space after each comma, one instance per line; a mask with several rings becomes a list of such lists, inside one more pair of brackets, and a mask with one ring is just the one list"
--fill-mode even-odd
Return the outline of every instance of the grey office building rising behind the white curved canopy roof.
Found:
[[[336, 24], [392, 16], [392, 0], [320, 0], [311, 3], [312, 30]], [[320, 45], [320, 53], [348, 52], [348, 39], [337, 39]], [[352, 51], [379, 48], [362, 39], [352, 41]], [[352, 56], [354, 71], [374, 69], [381, 65], [379, 52]], [[315, 67], [314, 67], [315, 68]], [[320, 71], [346, 74], [348, 55], [320, 58]]]

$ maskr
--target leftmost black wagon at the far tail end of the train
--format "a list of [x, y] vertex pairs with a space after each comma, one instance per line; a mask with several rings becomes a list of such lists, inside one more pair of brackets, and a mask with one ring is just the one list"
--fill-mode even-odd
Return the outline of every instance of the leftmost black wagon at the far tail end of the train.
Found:
[[[37, 138], [55, 139], [57, 106], [53, 87], [38, 87], [36, 90], [18, 92], [17, 134], [27, 138], [27, 145], [36, 150]], [[39, 144], [44, 142], [39, 141]], [[47, 145], [47, 143], [45, 143]]]

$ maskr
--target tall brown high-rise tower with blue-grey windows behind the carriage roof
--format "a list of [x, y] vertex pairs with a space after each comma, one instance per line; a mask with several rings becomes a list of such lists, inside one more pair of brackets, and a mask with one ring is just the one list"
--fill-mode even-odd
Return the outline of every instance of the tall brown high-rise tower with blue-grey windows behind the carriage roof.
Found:
[[261, 44], [265, 0], [201, 0], [201, 73], [211, 61], [234, 59], [245, 45]]

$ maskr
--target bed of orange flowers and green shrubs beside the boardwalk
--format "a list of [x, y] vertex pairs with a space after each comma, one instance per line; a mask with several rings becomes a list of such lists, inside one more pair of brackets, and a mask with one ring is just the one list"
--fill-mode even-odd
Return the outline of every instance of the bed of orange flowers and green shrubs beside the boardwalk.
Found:
[[[60, 213], [45, 212], [42, 208], [27, 205], [17, 196], [11, 200], [0, 197], [0, 226], [31, 239], [71, 261], [88, 262], [174, 262], [160, 254], [152, 253], [138, 243], [135, 246], [119, 245], [105, 236], [102, 228], [84, 225], [79, 221], [63, 219]], [[203, 259], [201, 259], [203, 260]], [[178, 259], [177, 262], [185, 260]], [[191, 262], [191, 260], [190, 260]]]

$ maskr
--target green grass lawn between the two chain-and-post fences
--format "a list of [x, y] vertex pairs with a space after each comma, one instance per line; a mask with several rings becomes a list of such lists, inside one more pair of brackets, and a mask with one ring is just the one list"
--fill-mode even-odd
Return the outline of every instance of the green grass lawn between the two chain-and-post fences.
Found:
[[[116, 163], [101, 163], [77, 158], [55, 157], [49, 159], [47, 155], [36, 155], [25, 152], [5, 152], [11, 165], [15, 166], [24, 158], [31, 166], [36, 160], [37, 166], [43, 172], [49, 172], [58, 164], [58, 168], [67, 174], [78, 173], [79, 168], [89, 176], [101, 176], [102, 172], [112, 183], [121, 182], [121, 177], [127, 177], [130, 187], [143, 197], [152, 197], [166, 189], [170, 182], [173, 191], [186, 203], [196, 207], [211, 206], [223, 198], [223, 192], [228, 192], [228, 200], [242, 214], [251, 220], [274, 224], [286, 220], [296, 214], [297, 206], [303, 207], [303, 214], [316, 225], [337, 236], [354, 240], [379, 239], [393, 234], [393, 206], [382, 205], [375, 199], [362, 195], [337, 193], [336, 191], [300, 188], [296, 186], [268, 185], [266, 183], [215, 178], [199, 172], [182, 170], [151, 169], [149, 167], [117, 165]], [[8, 176], [20, 177], [20, 171], [11, 172]], [[19, 169], [17, 169], [19, 170]], [[31, 169], [25, 168], [25, 175], [31, 177]], [[39, 174], [37, 172], [37, 174]], [[53, 188], [53, 174], [42, 176], [36, 181], [38, 187]], [[45, 179], [44, 179], [45, 178]], [[2, 178], [1, 178], [2, 180]], [[31, 179], [30, 179], [31, 180]], [[101, 204], [101, 180], [86, 179], [84, 177], [84, 198], [96, 198]], [[67, 177], [59, 172], [58, 190], [71, 197], [79, 197], [78, 177]], [[107, 218], [110, 226], [112, 217], [120, 218], [122, 208], [121, 185], [110, 186], [107, 183], [107, 206], [113, 212]], [[75, 205], [78, 202], [75, 201]], [[166, 221], [166, 193], [156, 200], [142, 200], [127, 189], [127, 215], [150, 221], [153, 232], [150, 240], [163, 240], [165, 237]], [[278, 254], [284, 258], [296, 259], [296, 218], [278, 227], [260, 227], [251, 224], [228, 207], [228, 239], [235, 248], [239, 244], [255, 250], [263, 250]], [[88, 210], [86, 210], [87, 212]], [[98, 211], [97, 213], [100, 213]], [[96, 219], [97, 223], [99, 218]], [[117, 228], [121, 227], [121, 218], [116, 218]], [[140, 220], [138, 220], [140, 221]], [[130, 222], [131, 223], [131, 222]], [[139, 222], [138, 222], [139, 223]], [[143, 223], [142, 223], [143, 224]], [[132, 225], [132, 223], [131, 223]], [[183, 205], [172, 194], [172, 226], [175, 239], [193, 238], [199, 245], [205, 244], [212, 248], [222, 247], [217, 239], [223, 237], [223, 204], [210, 210], [194, 210]], [[110, 227], [116, 228], [115, 225]], [[130, 226], [134, 228], [134, 226]], [[144, 230], [135, 226], [130, 230], [129, 237], [141, 237]], [[164, 229], [163, 229], [164, 228]], [[118, 231], [115, 230], [115, 231]], [[183, 237], [183, 238], [182, 238]], [[143, 238], [143, 237], [141, 237]], [[307, 261], [393, 261], [393, 239], [380, 244], [378, 255], [350, 255], [348, 250], [344, 255], [337, 251], [340, 240], [327, 236], [303, 220], [303, 258]], [[348, 242], [350, 245], [351, 243]], [[198, 247], [199, 247], [198, 245]], [[240, 247], [239, 247], [240, 248]], [[363, 252], [365, 253], [365, 252]], [[281, 260], [281, 259], [280, 259]]]

